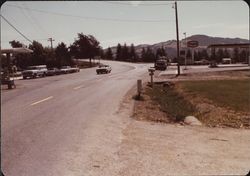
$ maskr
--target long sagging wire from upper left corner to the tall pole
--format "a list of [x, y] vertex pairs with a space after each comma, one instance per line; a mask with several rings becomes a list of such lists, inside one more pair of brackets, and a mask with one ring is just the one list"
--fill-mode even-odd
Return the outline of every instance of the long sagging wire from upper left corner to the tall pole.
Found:
[[70, 14], [64, 14], [64, 13], [58, 13], [58, 12], [51, 12], [51, 11], [45, 11], [45, 10], [38, 10], [38, 9], [31, 9], [31, 8], [24, 8], [17, 5], [6, 5], [16, 8], [22, 8], [22, 9], [28, 9], [40, 13], [48, 13], [53, 15], [61, 15], [61, 16], [69, 16], [69, 17], [75, 17], [75, 18], [82, 18], [82, 19], [92, 19], [92, 20], [102, 20], [102, 21], [118, 21], [118, 22], [166, 22], [166, 21], [174, 21], [174, 20], [141, 20], [141, 19], [118, 19], [118, 18], [101, 18], [101, 17], [89, 17], [89, 16], [78, 16], [78, 15], [70, 15]]

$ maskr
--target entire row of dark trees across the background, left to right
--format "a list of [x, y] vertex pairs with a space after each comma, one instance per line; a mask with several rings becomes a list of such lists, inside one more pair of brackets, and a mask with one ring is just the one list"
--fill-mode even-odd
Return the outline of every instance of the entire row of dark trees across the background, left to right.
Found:
[[[22, 47], [23, 44], [19, 41], [10, 41], [10, 45], [13, 48]], [[33, 50], [30, 54], [16, 54], [13, 60], [18, 68], [26, 68], [31, 65], [47, 65], [48, 67], [61, 68], [64, 65], [75, 65], [77, 59], [89, 59], [90, 66], [92, 60], [99, 56], [106, 60], [116, 60], [125, 62], [155, 62], [161, 57], [168, 58], [168, 54], [163, 46], [153, 51], [150, 46], [143, 47], [141, 50], [136, 51], [134, 44], [127, 46], [125, 43], [121, 45], [117, 44], [116, 49], [108, 47], [105, 51], [100, 46], [100, 42], [92, 35], [84, 35], [78, 33], [77, 38], [70, 46], [65, 43], [59, 43], [55, 48], [43, 47], [43, 45], [37, 41], [33, 41], [28, 46], [29, 49]], [[222, 58], [231, 57], [233, 62], [245, 62], [249, 52], [246, 50], [239, 51], [235, 48], [229, 52], [227, 49], [214, 50], [210, 55], [207, 49], [196, 50], [194, 52], [194, 60], [199, 61], [201, 59], [216, 60], [221, 62]], [[184, 57], [181, 55], [181, 57]], [[191, 50], [188, 49], [186, 53], [187, 58], [191, 58]], [[181, 59], [184, 61], [184, 59]], [[172, 58], [173, 62], [177, 62], [177, 58]], [[1, 65], [6, 66], [6, 57], [1, 55]]]

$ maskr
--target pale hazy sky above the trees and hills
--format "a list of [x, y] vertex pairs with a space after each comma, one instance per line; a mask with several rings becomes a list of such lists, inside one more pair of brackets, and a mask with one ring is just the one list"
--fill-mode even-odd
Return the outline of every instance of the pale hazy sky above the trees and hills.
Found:
[[[117, 43], [154, 44], [176, 39], [174, 1], [7, 1], [3, 15], [30, 40], [69, 46], [77, 33], [91, 34], [103, 48]], [[249, 39], [249, 7], [244, 1], [177, 1], [179, 38], [205, 34]], [[29, 42], [1, 18], [1, 47]]]

